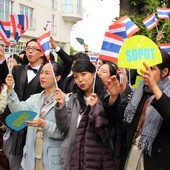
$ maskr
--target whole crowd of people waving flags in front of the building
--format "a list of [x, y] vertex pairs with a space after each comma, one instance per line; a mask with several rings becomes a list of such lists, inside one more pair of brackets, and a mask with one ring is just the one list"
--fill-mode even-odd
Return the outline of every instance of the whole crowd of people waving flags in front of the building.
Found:
[[[162, 63], [143, 63], [132, 91], [135, 70], [50, 43], [60, 62], [52, 53], [49, 62], [37, 39], [22, 58], [6, 59], [0, 46], [0, 169], [169, 170], [170, 55], [160, 50]], [[20, 110], [37, 115], [20, 131], [6, 127]]]

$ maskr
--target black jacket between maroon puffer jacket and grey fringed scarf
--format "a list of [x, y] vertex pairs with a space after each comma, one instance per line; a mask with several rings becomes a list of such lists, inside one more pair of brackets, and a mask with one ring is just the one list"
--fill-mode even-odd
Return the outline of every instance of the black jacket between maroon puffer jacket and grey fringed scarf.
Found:
[[127, 85], [122, 95], [118, 96], [112, 106], [108, 106], [108, 99], [104, 101], [105, 114], [112, 126], [112, 142], [113, 142], [113, 157], [116, 164], [116, 169], [119, 169], [120, 162], [125, 154], [126, 148], [126, 128], [123, 122], [124, 110], [129, 102], [131, 88]]

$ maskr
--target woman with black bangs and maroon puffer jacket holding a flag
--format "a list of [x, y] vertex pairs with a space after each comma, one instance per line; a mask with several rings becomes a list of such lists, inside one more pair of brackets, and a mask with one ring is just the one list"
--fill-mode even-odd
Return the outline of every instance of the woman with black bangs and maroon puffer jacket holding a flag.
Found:
[[55, 94], [56, 123], [66, 134], [60, 151], [64, 169], [114, 170], [111, 127], [102, 106], [105, 94], [102, 80], [96, 75], [93, 89], [96, 68], [88, 60], [76, 61], [72, 71], [75, 91], [69, 101], [59, 88]]

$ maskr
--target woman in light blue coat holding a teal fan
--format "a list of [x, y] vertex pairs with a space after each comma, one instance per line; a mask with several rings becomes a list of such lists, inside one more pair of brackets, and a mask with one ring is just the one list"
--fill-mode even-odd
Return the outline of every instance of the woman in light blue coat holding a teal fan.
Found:
[[[52, 62], [51, 65], [55, 79], [59, 82], [62, 77], [62, 67], [56, 62]], [[43, 65], [39, 81], [44, 90], [41, 93], [31, 95], [26, 101], [20, 101], [13, 90], [13, 76], [8, 74], [6, 78], [10, 111], [30, 110], [37, 112], [35, 119], [26, 121], [28, 128], [21, 166], [24, 170], [63, 170], [59, 150], [64, 133], [60, 132], [55, 122], [54, 107], [56, 101], [54, 93], [56, 84], [49, 62]]]

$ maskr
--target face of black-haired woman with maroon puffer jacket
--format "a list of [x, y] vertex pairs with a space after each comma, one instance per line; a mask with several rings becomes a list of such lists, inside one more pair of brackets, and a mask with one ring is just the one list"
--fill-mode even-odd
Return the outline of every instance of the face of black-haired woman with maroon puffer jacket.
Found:
[[74, 72], [73, 73], [75, 83], [82, 89], [86, 94], [92, 92], [94, 73], [87, 71]]

